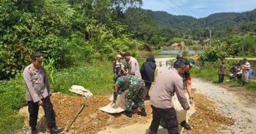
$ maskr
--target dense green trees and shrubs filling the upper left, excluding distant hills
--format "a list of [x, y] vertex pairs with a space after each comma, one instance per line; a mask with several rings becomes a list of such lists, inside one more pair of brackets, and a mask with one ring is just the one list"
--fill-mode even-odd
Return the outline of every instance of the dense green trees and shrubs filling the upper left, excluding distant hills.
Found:
[[57, 68], [77, 61], [135, 54], [142, 43], [131, 39], [118, 20], [140, 0], [0, 1], [0, 79], [11, 78], [30, 63], [34, 52], [53, 58]]

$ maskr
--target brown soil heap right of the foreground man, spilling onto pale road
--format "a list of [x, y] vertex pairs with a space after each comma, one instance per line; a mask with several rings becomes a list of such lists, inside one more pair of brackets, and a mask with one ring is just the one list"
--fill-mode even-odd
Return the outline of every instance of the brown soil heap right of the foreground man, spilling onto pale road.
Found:
[[222, 133], [221, 129], [234, 124], [234, 119], [219, 114], [213, 101], [207, 99], [205, 95], [194, 93], [194, 101], [196, 104], [196, 113], [189, 119], [192, 130], [185, 130], [184, 133]]

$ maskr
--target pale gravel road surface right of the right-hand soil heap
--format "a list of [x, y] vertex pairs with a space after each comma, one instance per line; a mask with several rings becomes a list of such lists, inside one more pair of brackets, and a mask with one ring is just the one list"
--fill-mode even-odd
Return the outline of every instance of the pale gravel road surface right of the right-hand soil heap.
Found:
[[256, 133], [256, 93], [241, 87], [221, 88], [218, 84], [192, 79], [192, 87], [196, 93], [202, 93], [215, 103], [219, 113], [232, 117], [234, 125], [228, 126], [225, 133]]

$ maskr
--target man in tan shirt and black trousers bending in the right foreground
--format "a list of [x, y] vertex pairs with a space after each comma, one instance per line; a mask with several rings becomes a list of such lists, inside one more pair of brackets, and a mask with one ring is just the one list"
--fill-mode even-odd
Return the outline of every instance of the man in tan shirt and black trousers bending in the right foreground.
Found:
[[184, 67], [184, 61], [177, 60], [173, 68], [158, 74], [150, 99], [153, 119], [149, 134], [158, 133], [161, 120], [161, 122], [164, 122], [163, 127], [168, 130], [169, 134], [179, 134], [179, 123], [171, 98], [176, 92], [182, 108], [184, 110], [190, 109], [186, 96], [184, 95], [184, 86], [181, 77], [182, 73], [184, 73]]

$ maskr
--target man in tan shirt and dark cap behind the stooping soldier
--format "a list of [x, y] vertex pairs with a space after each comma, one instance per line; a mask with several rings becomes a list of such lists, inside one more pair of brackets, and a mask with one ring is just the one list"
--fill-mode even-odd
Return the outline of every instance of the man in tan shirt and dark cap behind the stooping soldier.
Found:
[[128, 74], [138, 76], [138, 78], [141, 79], [140, 67], [137, 59], [133, 58], [129, 52], [125, 52], [123, 58], [128, 62]]

